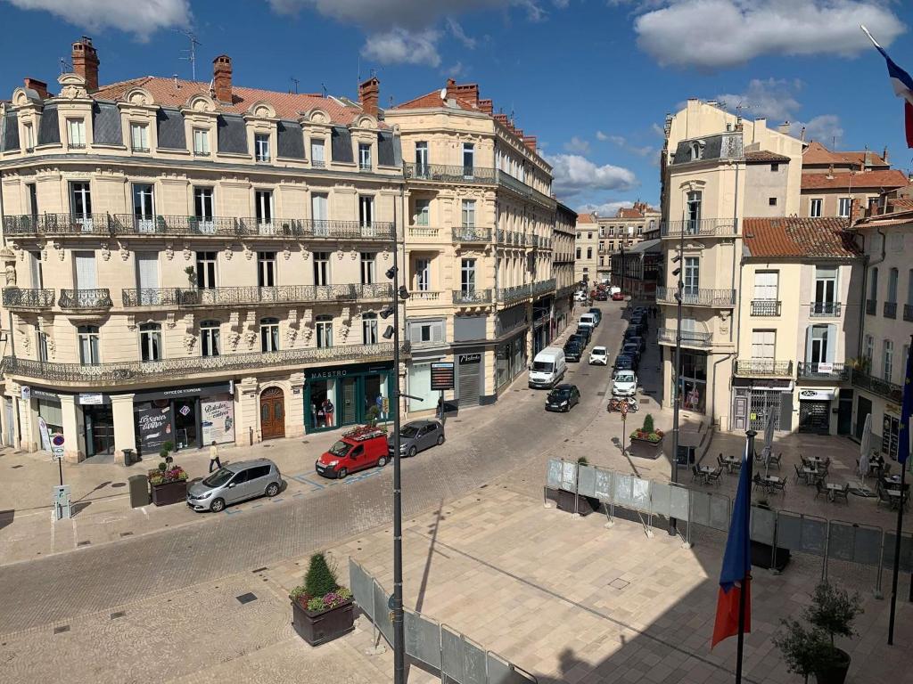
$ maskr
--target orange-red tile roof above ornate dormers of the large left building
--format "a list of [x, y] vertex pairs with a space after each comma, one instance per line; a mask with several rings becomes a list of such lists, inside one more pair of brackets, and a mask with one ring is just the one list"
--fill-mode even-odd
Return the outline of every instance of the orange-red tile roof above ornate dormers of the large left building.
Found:
[[[155, 102], [165, 107], [181, 107], [194, 95], [209, 95], [209, 84], [202, 81], [185, 81], [179, 78], [175, 88], [173, 78], [146, 76], [102, 86], [92, 93], [92, 97], [118, 99], [131, 88], [149, 90]], [[271, 104], [276, 109], [279, 119], [298, 119], [302, 113], [310, 109], [324, 109], [333, 123], [347, 125], [362, 113], [362, 108], [358, 104], [345, 104], [336, 98], [323, 98], [309, 93], [280, 93], [242, 86], [232, 86], [231, 104], [216, 101], [216, 107], [222, 112], [243, 114], [259, 100]]]

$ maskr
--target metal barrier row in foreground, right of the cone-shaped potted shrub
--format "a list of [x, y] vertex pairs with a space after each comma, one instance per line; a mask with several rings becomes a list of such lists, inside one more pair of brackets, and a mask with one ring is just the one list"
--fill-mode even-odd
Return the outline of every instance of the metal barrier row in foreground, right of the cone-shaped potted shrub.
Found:
[[[560, 482], [560, 478], [556, 482]], [[390, 595], [352, 558], [349, 559], [349, 584], [362, 615], [371, 620], [392, 647]], [[452, 627], [412, 610], [404, 610], [403, 615], [406, 656], [416, 664], [440, 673], [444, 684], [535, 684], [538, 681], [526, 670], [482, 648]]]

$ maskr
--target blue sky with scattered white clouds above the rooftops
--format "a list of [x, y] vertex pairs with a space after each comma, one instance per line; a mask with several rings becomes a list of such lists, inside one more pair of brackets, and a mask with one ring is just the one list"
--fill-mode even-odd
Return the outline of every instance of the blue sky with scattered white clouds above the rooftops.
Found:
[[226, 53], [237, 84], [354, 97], [375, 69], [386, 106], [454, 76], [538, 136], [561, 201], [609, 213], [658, 200], [663, 119], [688, 97], [741, 102], [837, 149], [887, 145], [913, 169], [860, 23], [913, 72], [906, 0], [0, 0], [0, 98], [26, 76], [53, 89], [80, 35], [102, 83], [190, 78], [188, 28], [200, 80]]

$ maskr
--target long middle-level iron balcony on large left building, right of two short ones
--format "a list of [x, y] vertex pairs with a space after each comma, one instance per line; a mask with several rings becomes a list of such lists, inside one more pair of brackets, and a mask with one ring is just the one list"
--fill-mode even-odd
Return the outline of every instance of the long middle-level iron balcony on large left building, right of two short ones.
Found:
[[303, 304], [311, 302], [365, 301], [393, 297], [393, 285], [278, 285], [276, 287], [160, 287], [125, 289], [125, 308], [141, 306], [236, 306], [241, 304]]

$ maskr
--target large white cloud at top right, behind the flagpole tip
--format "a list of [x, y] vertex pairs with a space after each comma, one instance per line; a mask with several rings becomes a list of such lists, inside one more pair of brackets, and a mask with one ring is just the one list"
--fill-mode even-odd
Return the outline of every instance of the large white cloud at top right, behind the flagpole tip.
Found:
[[860, 24], [885, 46], [906, 30], [879, 0], [666, 0], [635, 31], [662, 66], [714, 69], [761, 55], [852, 57], [872, 47]]

